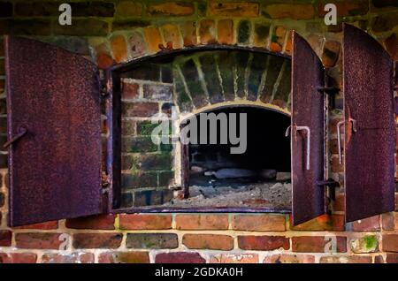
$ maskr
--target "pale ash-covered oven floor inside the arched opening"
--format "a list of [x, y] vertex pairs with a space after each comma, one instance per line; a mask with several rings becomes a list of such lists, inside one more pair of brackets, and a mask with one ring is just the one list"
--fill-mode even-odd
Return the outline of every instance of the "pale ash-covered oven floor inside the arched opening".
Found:
[[290, 209], [290, 182], [253, 181], [239, 178], [190, 178], [188, 199], [172, 199], [164, 204], [175, 208], [264, 208]]

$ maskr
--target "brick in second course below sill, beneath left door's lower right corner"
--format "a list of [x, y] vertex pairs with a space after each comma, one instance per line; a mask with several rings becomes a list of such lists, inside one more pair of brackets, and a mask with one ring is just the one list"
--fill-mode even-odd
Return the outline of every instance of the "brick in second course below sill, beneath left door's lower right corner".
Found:
[[73, 247], [80, 248], [118, 248], [121, 233], [77, 233], [73, 234]]

